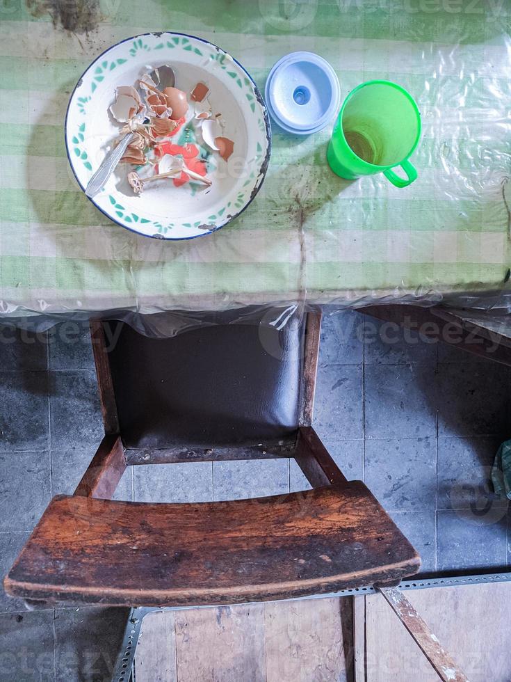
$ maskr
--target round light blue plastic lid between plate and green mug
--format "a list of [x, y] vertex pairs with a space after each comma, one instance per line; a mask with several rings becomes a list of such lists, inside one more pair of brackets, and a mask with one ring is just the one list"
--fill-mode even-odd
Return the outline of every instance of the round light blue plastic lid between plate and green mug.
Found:
[[266, 80], [265, 95], [275, 122], [299, 135], [323, 129], [341, 104], [336, 73], [314, 52], [291, 52], [279, 59]]

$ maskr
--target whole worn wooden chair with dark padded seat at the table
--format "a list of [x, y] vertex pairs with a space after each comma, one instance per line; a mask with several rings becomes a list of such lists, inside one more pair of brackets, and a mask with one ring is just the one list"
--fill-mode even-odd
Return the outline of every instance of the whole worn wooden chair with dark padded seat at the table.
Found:
[[[92, 322], [105, 436], [74, 495], [51, 500], [6, 592], [193, 606], [396, 585], [416, 573], [414, 548], [311, 427], [320, 328], [319, 312], [283, 331], [216, 324], [166, 339]], [[270, 457], [293, 457], [313, 489], [193, 504], [111, 499], [128, 465]]]

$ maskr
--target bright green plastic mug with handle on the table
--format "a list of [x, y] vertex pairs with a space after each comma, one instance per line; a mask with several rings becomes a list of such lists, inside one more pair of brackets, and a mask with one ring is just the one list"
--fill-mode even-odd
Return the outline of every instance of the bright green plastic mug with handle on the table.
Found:
[[[346, 180], [383, 173], [396, 187], [407, 187], [417, 177], [408, 159], [420, 136], [421, 114], [412, 95], [391, 81], [367, 81], [344, 100], [327, 161]], [[406, 179], [394, 173], [396, 166]]]

